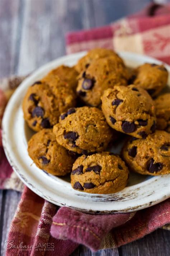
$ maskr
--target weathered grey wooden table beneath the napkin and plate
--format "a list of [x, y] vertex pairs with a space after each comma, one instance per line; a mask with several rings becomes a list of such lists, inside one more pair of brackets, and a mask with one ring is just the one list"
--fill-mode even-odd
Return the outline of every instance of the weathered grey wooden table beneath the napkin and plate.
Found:
[[[103, 26], [137, 12], [149, 0], [0, 0], [0, 77], [25, 75], [65, 54], [68, 31]], [[20, 193], [0, 191], [0, 253]], [[169, 232], [158, 229], [120, 248], [92, 253], [79, 246], [72, 255], [168, 256]], [[23, 254], [24, 255], [24, 254]], [[57, 255], [57, 254], [55, 254]]]

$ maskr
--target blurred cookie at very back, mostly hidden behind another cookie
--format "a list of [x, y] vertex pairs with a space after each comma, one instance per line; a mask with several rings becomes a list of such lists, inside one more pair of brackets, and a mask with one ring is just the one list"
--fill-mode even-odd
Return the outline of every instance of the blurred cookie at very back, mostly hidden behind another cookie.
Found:
[[104, 48], [95, 48], [90, 50], [84, 57], [79, 59], [79, 61], [75, 66], [75, 69], [77, 70], [77, 72], [81, 73], [90, 66], [93, 60], [110, 57], [110, 56], [114, 58], [115, 62], [123, 64], [123, 60], [113, 50], [104, 49]]

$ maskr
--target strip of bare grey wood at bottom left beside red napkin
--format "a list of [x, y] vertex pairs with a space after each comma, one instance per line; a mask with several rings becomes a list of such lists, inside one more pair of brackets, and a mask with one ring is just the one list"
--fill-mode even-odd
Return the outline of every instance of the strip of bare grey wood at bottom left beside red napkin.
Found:
[[20, 200], [21, 194], [14, 190], [3, 190], [3, 204], [1, 209], [3, 210], [3, 216], [1, 220], [2, 238], [1, 238], [1, 255], [5, 255], [6, 243], [8, 240], [8, 232], [11, 220], [14, 216], [16, 207]]

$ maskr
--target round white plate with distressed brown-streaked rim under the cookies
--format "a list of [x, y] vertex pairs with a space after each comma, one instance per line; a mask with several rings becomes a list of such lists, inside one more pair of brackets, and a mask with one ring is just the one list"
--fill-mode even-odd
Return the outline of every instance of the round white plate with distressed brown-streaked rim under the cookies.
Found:
[[[131, 212], [155, 205], [170, 197], [170, 175], [144, 176], [131, 173], [128, 186], [115, 194], [88, 194], [71, 188], [69, 177], [58, 178], [40, 170], [27, 152], [27, 142], [32, 136], [23, 119], [22, 100], [28, 86], [40, 80], [51, 69], [61, 64], [73, 66], [85, 52], [58, 58], [39, 68], [26, 78], [11, 97], [3, 118], [3, 145], [6, 156], [19, 178], [44, 199], [59, 205], [85, 212]], [[136, 67], [145, 62], [161, 62], [134, 53], [119, 53], [128, 66]], [[170, 67], [165, 65], [170, 72]], [[113, 152], [120, 151], [115, 146]]]

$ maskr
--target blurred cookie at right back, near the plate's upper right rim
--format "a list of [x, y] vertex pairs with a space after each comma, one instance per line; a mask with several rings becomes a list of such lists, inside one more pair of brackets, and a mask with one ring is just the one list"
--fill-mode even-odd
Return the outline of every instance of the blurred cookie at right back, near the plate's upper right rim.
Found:
[[155, 97], [167, 84], [168, 72], [163, 65], [145, 63], [136, 69], [134, 85], [140, 85]]

